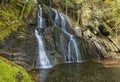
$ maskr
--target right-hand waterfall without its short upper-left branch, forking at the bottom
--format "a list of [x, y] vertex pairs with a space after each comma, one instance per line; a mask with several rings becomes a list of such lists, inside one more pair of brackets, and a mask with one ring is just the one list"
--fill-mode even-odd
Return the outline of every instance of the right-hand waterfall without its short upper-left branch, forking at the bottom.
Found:
[[[63, 30], [64, 33], [66, 33], [70, 37], [70, 41], [68, 43], [68, 61], [67, 62], [70, 63], [70, 62], [74, 62], [75, 60], [76, 60], [76, 62], [80, 62], [81, 61], [81, 57], [79, 57], [80, 54], [79, 54], [77, 43], [76, 43], [76, 41], [74, 39], [74, 36], [72, 34], [70, 34], [69, 32], [67, 32], [67, 30], [66, 30], [65, 23], [66, 23], [66, 20], [69, 21], [69, 19], [65, 20], [65, 16], [62, 13], [60, 13], [60, 17], [61, 17], [61, 27], [62, 27], [62, 30]], [[71, 26], [70, 22], [69, 22], [69, 24]], [[71, 44], [73, 44], [73, 47], [75, 49], [75, 56], [73, 56], [73, 54], [71, 53], [72, 52], [72, 49], [71, 49], [72, 45]]]

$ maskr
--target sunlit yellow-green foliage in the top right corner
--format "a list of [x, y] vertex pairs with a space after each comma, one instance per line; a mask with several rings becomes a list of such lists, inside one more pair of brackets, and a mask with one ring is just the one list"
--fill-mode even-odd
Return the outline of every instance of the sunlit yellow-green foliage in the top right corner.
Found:
[[105, 4], [109, 4], [108, 8], [105, 11], [105, 15], [110, 18], [107, 20], [108, 23], [115, 21], [114, 26], [118, 27], [120, 25], [120, 2], [119, 0], [109, 0], [105, 1]]

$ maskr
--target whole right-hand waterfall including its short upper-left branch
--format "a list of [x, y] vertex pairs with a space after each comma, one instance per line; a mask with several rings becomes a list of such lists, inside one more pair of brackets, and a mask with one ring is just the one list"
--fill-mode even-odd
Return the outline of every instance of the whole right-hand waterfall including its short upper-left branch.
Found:
[[[66, 30], [66, 20], [68, 21], [69, 26], [71, 26], [71, 22], [69, 21], [69, 19], [67, 17], [65, 17], [64, 14], [58, 13], [55, 9], [52, 9], [52, 10], [56, 14], [55, 15], [55, 19], [54, 19], [55, 25], [57, 25], [56, 24], [57, 23], [56, 20], [58, 20], [58, 16], [60, 16], [60, 19], [61, 19], [61, 30], [70, 37], [70, 41], [68, 43], [68, 55], [67, 55], [67, 57], [64, 56], [64, 58], [67, 58], [67, 59], [65, 59], [66, 62], [68, 62], [68, 63], [71, 63], [71, 62], [81, 62], [81, 55], [80, 55], [80, 53], [78, 51], [77, 43], [76, 43], [76, 41], [74, 39], [74, 36], [72, 34], [70, 34], [69, 32], [67, 32], [67, 30]], [[74, 54], [72, 53], [72, 48], [74, 48], [74, 50], [75, 50]]]

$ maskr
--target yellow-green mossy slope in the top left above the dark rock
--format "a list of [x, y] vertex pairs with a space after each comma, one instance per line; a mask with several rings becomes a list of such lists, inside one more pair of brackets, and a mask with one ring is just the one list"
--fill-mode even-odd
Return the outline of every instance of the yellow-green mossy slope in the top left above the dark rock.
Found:
[[26, 18], [30, 14], [32, 0], [26, 4], [22, 2], [10, 0], [7, 5], [0, 5], [0, 41], [4, 40], [11, 32], [17, 31], [21, 25], [25, 25], [23, 17]]

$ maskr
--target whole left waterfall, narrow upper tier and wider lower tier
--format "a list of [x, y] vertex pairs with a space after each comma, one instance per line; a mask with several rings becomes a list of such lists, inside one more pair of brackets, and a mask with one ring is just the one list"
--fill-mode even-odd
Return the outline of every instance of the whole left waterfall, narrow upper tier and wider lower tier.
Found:
[[[42, 24], [42, 8], [39, 5], [39, 12], [38, 12], [38, 29], [43, 28]], [[42, 36], [39, 35], [39, 31], [35, 30], [35, 36], [38, 41], [38, 57], [36, 62], [36, 68], [50, 68], [51, 64], [50, 61], [46, 55], [44, 44], [42, 41]]]

